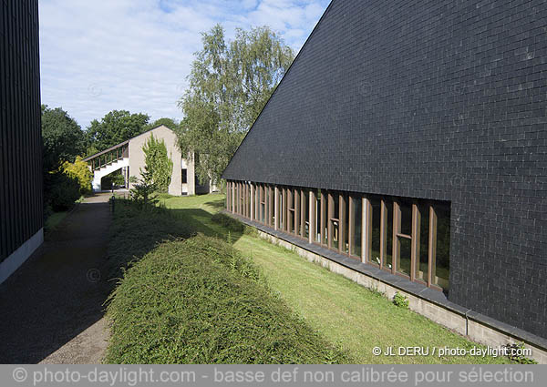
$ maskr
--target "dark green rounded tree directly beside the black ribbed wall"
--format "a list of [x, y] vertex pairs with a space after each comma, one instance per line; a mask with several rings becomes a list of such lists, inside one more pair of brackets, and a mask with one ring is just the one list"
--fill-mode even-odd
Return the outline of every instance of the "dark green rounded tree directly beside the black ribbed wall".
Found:
[[44, 169], [57, 169], [63, 162], [74, 162], [86, 151], [85, 134], [74, 118], [61, 107], [42, 105]]

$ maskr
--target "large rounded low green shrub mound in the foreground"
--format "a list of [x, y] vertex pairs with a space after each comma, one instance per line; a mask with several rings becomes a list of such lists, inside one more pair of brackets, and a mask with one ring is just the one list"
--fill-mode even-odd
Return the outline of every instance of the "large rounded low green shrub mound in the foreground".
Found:
[[112, 363], [350, 362], [274, 296], [250, 261], [202, 235], [162, 243], [132, 265], [108, 317]]

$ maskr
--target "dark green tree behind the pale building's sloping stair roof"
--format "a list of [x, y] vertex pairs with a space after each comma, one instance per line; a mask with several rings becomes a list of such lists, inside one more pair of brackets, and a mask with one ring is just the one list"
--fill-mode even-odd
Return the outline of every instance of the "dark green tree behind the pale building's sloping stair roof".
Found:
[[94, 119], [88, 127], [88, 148], [98, 151], [113, 147], [148, 129], [150, 117], [143, 113], [131, 114], [127, 110], [112, 110], [100, 121]]

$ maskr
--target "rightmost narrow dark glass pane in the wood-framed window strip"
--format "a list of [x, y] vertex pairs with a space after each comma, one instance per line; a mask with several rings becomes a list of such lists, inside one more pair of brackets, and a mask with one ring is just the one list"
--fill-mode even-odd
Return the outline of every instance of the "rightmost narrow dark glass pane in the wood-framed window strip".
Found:
[[435, 206], [437, 211], [437, 262], [433, 283], [449, 290], [450, 273], [450, 207]]

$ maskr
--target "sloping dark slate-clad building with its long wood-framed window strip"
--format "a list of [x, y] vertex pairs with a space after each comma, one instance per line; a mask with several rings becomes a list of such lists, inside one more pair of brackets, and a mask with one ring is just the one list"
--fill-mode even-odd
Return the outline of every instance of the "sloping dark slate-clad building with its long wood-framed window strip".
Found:
[[543, 1], [334, 0], [227, 209], [547, 338], [546, 28]]

